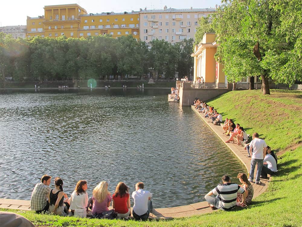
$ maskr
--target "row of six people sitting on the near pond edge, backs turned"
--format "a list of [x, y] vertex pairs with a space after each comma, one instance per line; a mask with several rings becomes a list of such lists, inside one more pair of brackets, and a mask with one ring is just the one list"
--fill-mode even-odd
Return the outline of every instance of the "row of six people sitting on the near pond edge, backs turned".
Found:
[[[114, 194], [108, 191], [108, 183], [100, 182], [92, 192], [92, 197], [88, 199], [87, 181], [79, 180], [74, 191], [68, 198], [63, 192], [63, 180], [56, 177], [54, 180], [54, 189], [49, 187], [51, 176], [43, 175], [41, 183], [37, 183], [31, 195], [31, 210], [37, 213], [48, 213], [57, 215], [74, 215], [77, 217], [86, 217], [89, 208], [92, 217], [103, 217], [107, 212], [112, 201], [114, 212], [117, 218], [128, 219], [130, 212], [130, 194], [129, 187], [120, 182], [117, 184]], [[144, 190], [144, 183], [138, 182], [135, 185], [135, 191], [132, 193], [134, 200], [133, 217], [136, 220], [146, 220], [153, 206], [151, 202], [152, 193]]]

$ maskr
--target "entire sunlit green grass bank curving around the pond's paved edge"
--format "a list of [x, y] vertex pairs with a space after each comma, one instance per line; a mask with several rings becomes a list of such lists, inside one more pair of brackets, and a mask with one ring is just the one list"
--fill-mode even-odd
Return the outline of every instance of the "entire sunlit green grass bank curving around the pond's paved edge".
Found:
[[[229, 92], [209, 102], [219, 112], [236, 119], [248, 133], [257, 131], [271, 145], [282, 150], [301, 141], [301, 92], [274, 91], [262, 96], [259, 91]], [[249, 102], [248, 100], [252, 100]], [[241, 104], [243, 103], [243, 104]], [[253, 105], [256, 105], [254, 107]], [[274, 107], [272, 107], [272, 105]], [[255, 113], [255, 110], [256, 113]], [[229, 113], [229, 114], [226, 114]], [[248, 117], [246, 117], [248, 116]], [[271, 116], [271, 117], [270, 117]], [[249, 117], [254, 119], [249, 120]], [[274, 125], [271, 125], [274, 122]], [[295, 123], [294, 123], [295, 122]], [[294, 123], [294, 125], [293, 125]], [[300, 128], [299, 128], [300, 127]], [[54, 215], [18, 212], [37, 226], [302, 226], [302, 146], [289, 150], [278, 160], [278, 174], [268, 190], [253, 200], [248, 209], [218, 211], [172, 221], [135, 222], [77, 219]], [[1, 209], [4, 210], [4, 209]]]

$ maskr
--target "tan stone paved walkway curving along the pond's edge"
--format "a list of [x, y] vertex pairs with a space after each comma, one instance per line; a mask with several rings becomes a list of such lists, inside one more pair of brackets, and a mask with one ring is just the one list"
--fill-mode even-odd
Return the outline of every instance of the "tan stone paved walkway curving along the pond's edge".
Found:
[[[192, 109], [205, 121], [205, 123], [217, 134], [217, 136], [224, 142], [228, 139], [223, 133], [221, 126], [213, 125], [209, 118], [204, 118], [194, 107]], [[247, 152], [244, 150], [243, 146], [238, 146], [236, 143], [226, 143], [226, 146], [238, 157], [238, 159], [246, 166], [247, 171], [250, 170], [250, 158], [248, 158]], [[252, 184], [254, 187], [254, 197], [259, 196], [268, 187], [269, 180], [261, 179], [261, 185]], [[215, 185], [213, 185], [214, 188]], [[8, 209], [20, 209], [20, 210], [30, 210], [31, 203], [29, 200], [19, 200], [19, 199], [0, 199], [0, 208]], [[132, 208], [131, 208], [132, 212]], [[158, 208], [154, 209], [153, 213], [150, 213], [150, 218], [156, 219], [172, 219], [172, 218], [182, 218], [190, 217], [193, 215], [201, 215], [205, 213], [213, 212], [207, 202], [198, 202], [186, 206], [170, 207], [170, 208]]]

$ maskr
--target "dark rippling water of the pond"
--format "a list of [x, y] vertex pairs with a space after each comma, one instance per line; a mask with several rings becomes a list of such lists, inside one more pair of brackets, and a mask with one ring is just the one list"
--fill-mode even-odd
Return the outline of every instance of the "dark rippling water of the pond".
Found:
[[[143, 181], [155, 208], [204, 201], [243, 164], [191, 110], [168, 103], [166, 89], [9, 90], [0, 94], [0, 198], [30, 199], [43, 174], [71, 194], [100, 181], [114, 192]], [[53, 180], [51, 187], [53, 188]], [[132, 206], [131, 201], [131, 206]]]

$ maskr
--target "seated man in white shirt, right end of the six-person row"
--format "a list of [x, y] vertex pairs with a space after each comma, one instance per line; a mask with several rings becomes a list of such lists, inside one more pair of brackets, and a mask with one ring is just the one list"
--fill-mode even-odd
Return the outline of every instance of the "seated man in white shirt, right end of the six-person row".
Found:
[[146, 221], [150, 211], [153, 209], [151, 202], [152, 193], [143, 188], [143, 182], [138, 182], [135, 185], [135, 191], [132, 192], [132, 198], [134, 200], [132, 213], [135, 220]]

